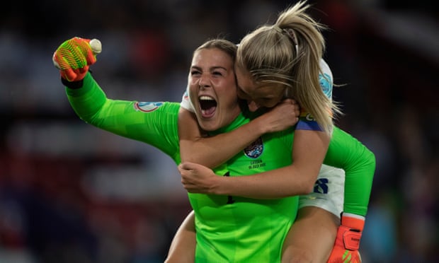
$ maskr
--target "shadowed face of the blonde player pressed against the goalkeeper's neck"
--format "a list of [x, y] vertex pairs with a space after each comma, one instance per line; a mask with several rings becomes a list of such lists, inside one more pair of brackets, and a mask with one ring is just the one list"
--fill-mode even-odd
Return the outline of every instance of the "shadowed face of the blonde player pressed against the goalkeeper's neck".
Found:
[[260, 107], [274, 107], [285, 97], [285, 88], [282, 84], [256, 83], [249, 71], [241, 66], [235, 66], [237, 94], [239, 98], [247, 100], [252, 112]]

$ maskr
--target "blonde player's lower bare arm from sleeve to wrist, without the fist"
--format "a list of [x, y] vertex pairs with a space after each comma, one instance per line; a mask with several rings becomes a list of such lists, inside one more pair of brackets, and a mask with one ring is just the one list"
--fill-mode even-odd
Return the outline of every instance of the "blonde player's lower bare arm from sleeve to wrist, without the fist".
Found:
[[221, 177], [212, 191], [256, 199], [309, 194], [319, 175], [330, 138], [321, 131], [296, 131], [296, 136], [291, 165], [252, 176]]

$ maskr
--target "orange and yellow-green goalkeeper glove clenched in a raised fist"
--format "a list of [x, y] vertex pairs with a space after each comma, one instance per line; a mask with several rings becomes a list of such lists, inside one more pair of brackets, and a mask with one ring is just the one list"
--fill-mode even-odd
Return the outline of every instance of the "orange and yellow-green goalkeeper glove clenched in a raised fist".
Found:
[[73, 37], [64, 41], [53, 53], [53, 64], [65, 80], [81, 81], [96, 62], [96, 54], [101, 53], [99, 40]]

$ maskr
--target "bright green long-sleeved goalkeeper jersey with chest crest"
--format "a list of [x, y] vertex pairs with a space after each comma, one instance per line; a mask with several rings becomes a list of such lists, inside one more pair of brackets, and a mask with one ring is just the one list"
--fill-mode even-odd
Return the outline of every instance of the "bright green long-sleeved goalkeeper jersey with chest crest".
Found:
[[[176, 164], [181, 162], [180, 103], [110, 100], [91, 74], [84, 78], [82, 88], [67, 88], [67, 96], [76, 114], [85, 122], [143, 141], [159, 148]], [[249, 117], [239, 115], [232, 124], [216, 133], [230, 131], [249, 120]], [[264, 134], [214, 171], [222, 176], [241, 176], [290, 165], [293, 136], [294, 128]], [[365, 154], [367, 151], [352, 136], [334, 129], [324, 163], [357, 173], [365, 163], [363, 159], [373, 157]], [[367, 209], [372, 178], [370, 182], [358, 178], [358, 182], [357, 187], [366, 190], [356, 203], [359, 209]], [[297, 197], [263, 200], [190, 193], [188, 197], [195, 212], [196, 262], [280, 262], [283, 240], [297, 214]]]

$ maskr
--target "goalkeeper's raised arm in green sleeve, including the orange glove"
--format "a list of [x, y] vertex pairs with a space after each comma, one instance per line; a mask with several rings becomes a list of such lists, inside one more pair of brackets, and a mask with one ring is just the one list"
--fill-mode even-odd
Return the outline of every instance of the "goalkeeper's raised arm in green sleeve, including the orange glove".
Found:
[[59, 45], [52, 57], [76, 115], [99, 129], [142, 141], [169, 156], [177, 156], [178, 134], [172, 128], [176, 127], [178, 103], [139, 103], [107, 98], [89, 72], [89, 66], [96, 62], [96, 53], [101, 49], [101, 45], [96, 47], [96, 42], [98, 40], [73, 37]]

